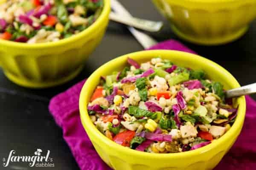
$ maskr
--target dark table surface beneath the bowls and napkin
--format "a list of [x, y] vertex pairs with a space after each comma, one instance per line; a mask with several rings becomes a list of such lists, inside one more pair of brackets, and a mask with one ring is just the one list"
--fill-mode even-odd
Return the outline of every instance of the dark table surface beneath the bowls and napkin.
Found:
[[[149, 0], [120, 0], [136, 17], [151, 20], [164, 20], [165, 26], [157, 34], [150, 34], [158, 41], [175, 39], [166, 20], [160, 16]], [[221, 46], [200, 46], [183, 42], [201, 56], [212, 59], [222, 65], [241, 85], [256, 82], [256, 21], [249, 31], [235, 42]], [[10, 150], [21, 155], [31, 155], [36, 148], [50, 150], [55, 163], [55, 170], [78, 170], [69, 147], [62, 138], [62, 130], [55, 124], [48, 111], [49, 99], [66, 90], [76, 82], [88, 77], [103, 63], [134, 51], [143, 50], [129, 31], [117, 23], [110, 22], [102, 43], [86, 62], [85, 69], [72, 81], [49, 89], [27, 89], [10, 82], [0, 70], [0, 159], [6, 158]], [[256, 99], [256, 96], [253, 96]], [[0, 169], [38, 169], [29, 168], [27, 164], [11, 164]], [[21, 168], [22, 169], [22, 168]]]

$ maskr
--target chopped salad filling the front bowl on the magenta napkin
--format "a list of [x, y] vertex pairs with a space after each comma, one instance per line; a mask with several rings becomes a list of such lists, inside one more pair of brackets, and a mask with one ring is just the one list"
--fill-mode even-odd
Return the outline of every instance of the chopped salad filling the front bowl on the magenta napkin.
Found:
[[223, 85], [203, 70], [160, 57], [102, 77], [87, 106], [109, 139], [149, 153], [195, 150], [220, 138], [236, 118]]

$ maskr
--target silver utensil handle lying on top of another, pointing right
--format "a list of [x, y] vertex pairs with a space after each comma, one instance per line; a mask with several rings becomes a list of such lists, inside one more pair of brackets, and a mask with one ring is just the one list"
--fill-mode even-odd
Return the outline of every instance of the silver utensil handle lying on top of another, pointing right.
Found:
[[114, 12], [110, 13], [109, 19], [112, 21], [116, 21], [118, 23], [122, 23], [128, 26], [133, 26], [135, 28], [140, 28], [142, 30], [150, 31], [150, 32], [157, 32], [163, 26], [163, 22], [161, 21], [156, 22], [151, 20], [143, 20], [140, 18], [128, 17], [128, 16], [116, 14]]

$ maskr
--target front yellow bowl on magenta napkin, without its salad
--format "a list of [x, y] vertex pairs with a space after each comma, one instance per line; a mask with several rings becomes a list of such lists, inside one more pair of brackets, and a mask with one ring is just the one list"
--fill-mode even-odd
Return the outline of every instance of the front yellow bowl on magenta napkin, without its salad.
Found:
[[145, 62], [160, 56], [170, 59], [177, 65], [203, 69], [210, 79], [223, 83], [225, 89], [240, 87], [236, 79], [220, 65], [195, 54], [180, 51], [152, 50], [127, 54], [107, 62], [98, 68], [84, 84], [80, 98], [79, 109], [81, 122], [99, 156], [115, 170], [211, 170], [236, 141], [244, 122], [245, 98], [237, 99], [238, 115], [233, 126], [220, 139], [212, 144], [183, 153], [145, 153], [123, 147], [108, 139], [97, 130], [87, 113], [87, 104], [99, 83], [100, 77], [120, 71], [127, 65], [127, 57], [137, 62]]

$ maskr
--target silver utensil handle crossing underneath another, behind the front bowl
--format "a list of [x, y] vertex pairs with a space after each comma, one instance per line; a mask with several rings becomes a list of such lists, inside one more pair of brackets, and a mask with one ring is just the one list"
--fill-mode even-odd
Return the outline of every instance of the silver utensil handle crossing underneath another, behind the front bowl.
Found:
[[[123, 7], [122, 4], [119, 3], [118, 0], [111, 0], [111, 8], [117, 14], [127, 16], [127, 17], [132, 17], [131, 14], [125, 9], [125, 7]], [[147, 34], [144, 34], [143, 32], [140, 32], [133, 27], [128, 26], [127, 28], [145, 49], [150, 48], [151, 46], [156, 45], [158, 43], [156, 40], [154, 40]]]

